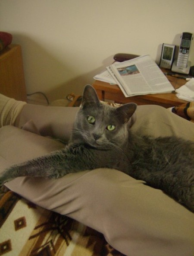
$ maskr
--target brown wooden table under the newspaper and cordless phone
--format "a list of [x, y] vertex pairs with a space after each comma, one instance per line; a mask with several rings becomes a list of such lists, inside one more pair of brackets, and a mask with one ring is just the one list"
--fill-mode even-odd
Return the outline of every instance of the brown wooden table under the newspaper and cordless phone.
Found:
[[[172, 76], [167, 76], [167, 78], [175, 89], [178, 89], [180, 86], [186, 83], [185, 79], [180, 79]], [[110, 83], [95, 80], [93, 83], [93, 87], [97, 91], [97, 95], [100, 100], [113, 100], [114, 102], [121, 104], [135, 102], [137, 105], [154, 104], [169, 108], [187, 102], [185, 100], [178, 99], [175, 95], [175, 92], [125, 97], [118, 85], [110, 85]]]

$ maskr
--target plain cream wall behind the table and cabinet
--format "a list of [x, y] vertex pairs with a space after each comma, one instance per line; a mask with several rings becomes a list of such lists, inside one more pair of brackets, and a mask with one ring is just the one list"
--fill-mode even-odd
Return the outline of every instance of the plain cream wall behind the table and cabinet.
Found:
[[194, 0], [1, 0], [0, 31], [22, 45], [27, 92], [52, 101], [81, 93], [118, 52], [158, 62], [163, 42], [194, 33]]

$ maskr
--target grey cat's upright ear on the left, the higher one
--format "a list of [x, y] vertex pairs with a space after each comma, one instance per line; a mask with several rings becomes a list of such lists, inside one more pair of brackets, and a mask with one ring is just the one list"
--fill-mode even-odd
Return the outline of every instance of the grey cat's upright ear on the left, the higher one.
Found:
[[98, 99], [97, 93], [91, 85], [86, 85], [81, 102], [82, 108], [86, 106], [96, 105], [100, 106], [100, 100]]

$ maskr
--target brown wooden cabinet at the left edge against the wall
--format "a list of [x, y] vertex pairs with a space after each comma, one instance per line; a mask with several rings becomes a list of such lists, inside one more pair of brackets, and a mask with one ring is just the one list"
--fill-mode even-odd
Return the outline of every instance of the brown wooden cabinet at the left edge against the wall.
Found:
[[20, 45], [9, 45], [0, 51], [0, 93], [16, 100], [27, 100]]

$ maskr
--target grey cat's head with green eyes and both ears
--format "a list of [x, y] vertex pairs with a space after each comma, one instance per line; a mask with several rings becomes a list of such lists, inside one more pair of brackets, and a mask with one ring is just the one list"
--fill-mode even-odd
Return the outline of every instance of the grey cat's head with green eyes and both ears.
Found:
[[78, 139], [99, 149], [108, 149], [113, 145], [120, 147], [128, 137], [127, 123], [136, 107], [135, 103], [119, 107], [104, 104], [91, 85], [85, 86], [72, 140]]

